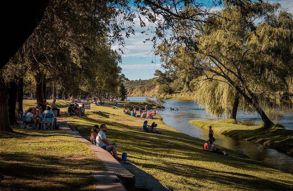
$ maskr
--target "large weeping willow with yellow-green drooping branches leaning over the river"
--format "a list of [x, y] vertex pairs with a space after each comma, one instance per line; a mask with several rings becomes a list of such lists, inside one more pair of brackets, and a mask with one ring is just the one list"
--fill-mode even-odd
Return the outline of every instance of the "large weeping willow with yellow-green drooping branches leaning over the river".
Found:
[[[256, 111], [270, 127], [274, 123], [265, 108], [292, 107], [288, 81], [293, 76], [293, 17], [279, 8], [268, 2], [225, 1], [223, 10], [193, 28], [196, 46], [168, 48], [172, 44], [166, 40], [158, 54], [166, 58], [164, 66], [201, 76], [199, 87], [205, 93], [198, 96], [210, 113], [236, 118], [233, 111], [240, 105]], [[261, 22], [255, 25], [257, 20]], [[185, 29], [189, 22], [178, 23], [176, 32], [190, 31]]]

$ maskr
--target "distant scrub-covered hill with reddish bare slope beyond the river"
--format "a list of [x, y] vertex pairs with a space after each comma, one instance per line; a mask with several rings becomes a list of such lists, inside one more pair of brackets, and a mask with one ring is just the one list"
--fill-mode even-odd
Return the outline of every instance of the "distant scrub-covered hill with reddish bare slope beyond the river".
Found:
[[124, 81], [127, 96], [156, 96], [158, 85], [154, 84], [154, 79]]

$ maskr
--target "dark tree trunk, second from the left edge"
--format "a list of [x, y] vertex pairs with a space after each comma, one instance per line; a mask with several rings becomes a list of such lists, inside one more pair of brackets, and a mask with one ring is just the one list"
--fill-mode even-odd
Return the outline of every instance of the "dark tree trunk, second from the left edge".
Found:
[[10, 124], [16, 124], [16, 94], [17, 94], [17, 84], [16, 82], [10, 82], [8, 88], [8, 113]]

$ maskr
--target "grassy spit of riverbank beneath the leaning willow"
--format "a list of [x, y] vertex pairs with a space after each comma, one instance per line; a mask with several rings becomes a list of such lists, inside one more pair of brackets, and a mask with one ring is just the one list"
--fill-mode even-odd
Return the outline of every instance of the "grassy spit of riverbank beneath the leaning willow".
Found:
[[286, 130], [281, 125], [275, 125], [266, 129], [262, 125], [248, 126], [233, 119], [216, 121], [191, 120], [189, 122], [197, 127], [207, 129], [207, 132], [209, 126], [212, 126], [214, 133], [221, 133], [239, 140], [260, 143], [266, 147], [293, 156], [293, 131]]

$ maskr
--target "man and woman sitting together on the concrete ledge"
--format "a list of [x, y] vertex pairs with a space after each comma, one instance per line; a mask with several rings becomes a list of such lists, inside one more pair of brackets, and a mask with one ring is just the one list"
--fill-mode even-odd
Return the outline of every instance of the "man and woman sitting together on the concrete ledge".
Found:
[[[91, 142], [96, 143], [97, 146], [111, 153], [117, 161], [123, 161], [122, 158], [118, 157], [116, 151], [116, 141], [111, 144], [109, 139], [106, 138], [105, 133], [107, 132], [106, 124], [101, 124], [100, 127], [98, 125], [94, 125], [91, 130]], [[95, 140], [95, 141], [94, 141]]]

